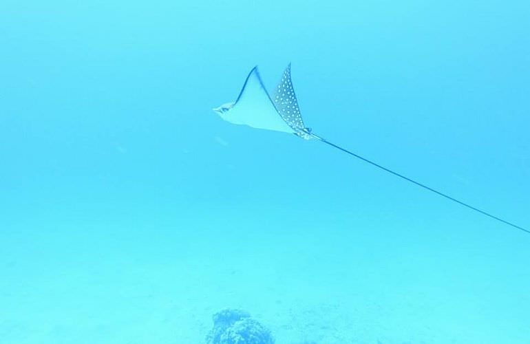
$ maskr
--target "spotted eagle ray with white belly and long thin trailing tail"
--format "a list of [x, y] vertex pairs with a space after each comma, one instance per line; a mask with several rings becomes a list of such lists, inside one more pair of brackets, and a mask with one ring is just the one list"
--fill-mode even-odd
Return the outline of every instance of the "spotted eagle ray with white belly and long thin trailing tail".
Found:
[[436, 193], [436, 195], [445, 197], [447, 200], [456, 202], [461, 206], [465, 206], [473, 211], [476, 211], [477, 213], [490, 217], [491, 219], [496, 219], [498, 222], [502, 222], [503, 224], [507, 224], [512, 228], [517, 228], [530, 234], [530, 230], [517, 226], [516, 224], [508, 222], [505, 219], [501, 219], [500, 217], [491, 215], [491, 213], [457, 200], [456, 198], [432, 189], [425, 184], [416, 182], [416, 180], [405, 177], [405, 175], [402, 175], [401, 173], [387, 169], [386, 167], [368, 160], [367, 158], [363, 158], [361, 155], [353, 153], [348, 149], [339, 147], [337, 144], [333, 144], [332, 142], [317, 136], [311, 131], [310, 128], [304, 125], [304, 120], [301, 118], [295, 89], [293, 88], [293, 82], [290, 78], [290, 63], [285, 69], [284, 74], [282, 74], [282, 79], [279, 81], [279, 84], [275, 88], [272, 96], [268, 94], [263, 84], [262, 78], [259, 76], [256, 66], [246, 77], [245, 83], [235, 102], [223, 104], [220, 107], [214, 108], [213, 111], [219, 114], [223, 120], [236, 125], [247, 125], [248, 127], [257, 129], [292, 133], [305, 140], [319, 140], [320, 142], [329, 144], [331, 147], [335, 147], [336, 149], [352, 155], [355, 158], [361, 159], [364, 162], [368, 162], [368, 164], [376, 166], [383, 171], [392, 173], [396, 177], [402, 178], [407, 182], [411, 182], [412, 184], [416, 184], [416, 186], [420, 186], [427, 191]]

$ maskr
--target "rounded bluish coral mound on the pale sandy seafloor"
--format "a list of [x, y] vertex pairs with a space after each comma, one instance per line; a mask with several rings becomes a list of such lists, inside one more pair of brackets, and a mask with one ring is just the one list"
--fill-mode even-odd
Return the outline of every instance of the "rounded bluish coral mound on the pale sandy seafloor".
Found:
[[248, 312], [226, 309], [213, 314], [213, 329], [206, 344], [274, 344], [271, 331]]

